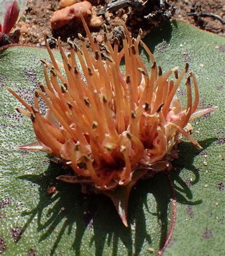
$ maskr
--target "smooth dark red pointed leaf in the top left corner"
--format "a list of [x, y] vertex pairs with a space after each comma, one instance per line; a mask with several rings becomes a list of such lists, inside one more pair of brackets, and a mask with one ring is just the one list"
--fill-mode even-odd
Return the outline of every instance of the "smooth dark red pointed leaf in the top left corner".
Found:
[[15, 25], [19, 16], [19, 6], [17, 1], [13, 1], [6, 10], [2, 33], [8, 34]]

